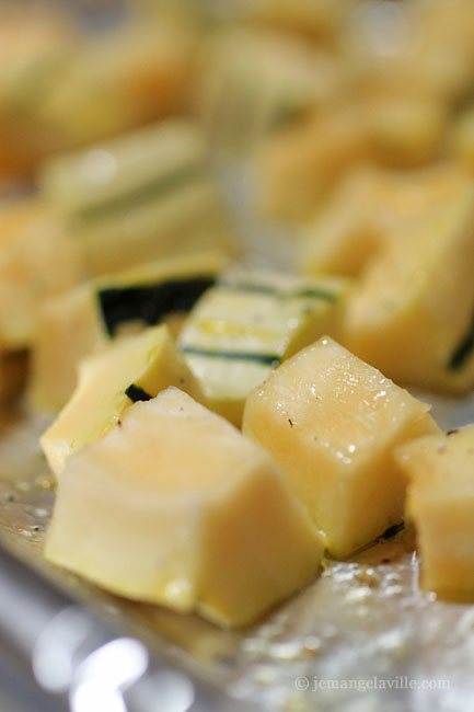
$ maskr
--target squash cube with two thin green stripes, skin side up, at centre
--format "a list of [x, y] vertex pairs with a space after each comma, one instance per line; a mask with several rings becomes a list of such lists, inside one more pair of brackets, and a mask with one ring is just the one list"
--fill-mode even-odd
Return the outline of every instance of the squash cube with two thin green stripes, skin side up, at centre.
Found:
[[323, 333], [337, 333], [344, 278], [229, 271], [186, 319], [180, 347], [207, 405], [240, 425], [245, 399], [278, 364]]

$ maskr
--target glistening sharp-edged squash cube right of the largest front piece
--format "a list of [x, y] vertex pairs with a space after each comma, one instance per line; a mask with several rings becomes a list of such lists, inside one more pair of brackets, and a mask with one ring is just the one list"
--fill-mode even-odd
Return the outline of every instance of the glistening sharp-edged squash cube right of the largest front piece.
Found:
[[393, 448], [438, 430], [428, 410], [323, 337], [251, 393], [243, 432], [280, 464], [330, 554], [344, 558], [403, 520]]

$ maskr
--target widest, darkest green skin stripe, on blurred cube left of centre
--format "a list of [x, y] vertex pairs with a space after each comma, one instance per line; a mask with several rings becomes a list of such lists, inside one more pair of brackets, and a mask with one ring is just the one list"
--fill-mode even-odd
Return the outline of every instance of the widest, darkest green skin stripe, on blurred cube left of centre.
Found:
[[155, 285], [101, 289], [97, 300], [108, 335], [115, 336], [120, 324], [128, 321], [153, 326], [167, 314], [189, 311], [215, 279], [215, 275], [201, 275]]

